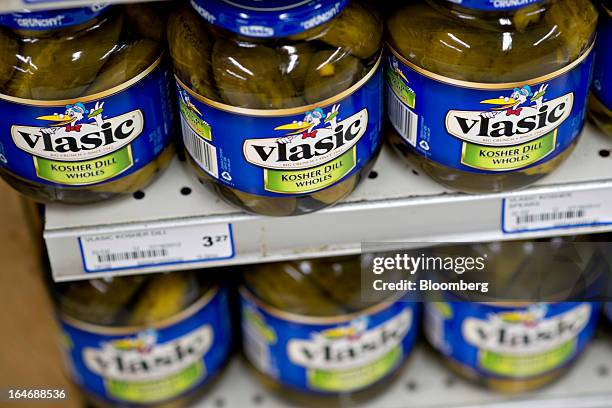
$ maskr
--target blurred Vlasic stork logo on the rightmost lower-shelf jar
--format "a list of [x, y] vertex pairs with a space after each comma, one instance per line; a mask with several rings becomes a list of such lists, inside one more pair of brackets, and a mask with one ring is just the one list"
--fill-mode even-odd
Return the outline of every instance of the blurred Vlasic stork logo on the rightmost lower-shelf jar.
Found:
[[581, 304], [546, 317], [546, 305], [525, 312], [491, 314], [488, 319], [468, 318], [462, 326], [465, 340], [482, 350], [524, 355], [544, 352], [575, 339], [589, 324], [591, 305]]

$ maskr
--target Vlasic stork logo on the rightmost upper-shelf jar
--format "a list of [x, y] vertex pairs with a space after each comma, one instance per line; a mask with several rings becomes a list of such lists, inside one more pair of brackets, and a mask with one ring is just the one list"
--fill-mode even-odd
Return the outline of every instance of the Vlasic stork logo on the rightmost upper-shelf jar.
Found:
[[533, 92], [529, 85], [514, 88], [509, 96], [486, 99], [488, 111], [451, 110], [446, 130], [451, 135], [484, 146], [514, 146], [538, 139], [557, 129], [570, 116], [572, 92], [546, 100], [548, 85]]

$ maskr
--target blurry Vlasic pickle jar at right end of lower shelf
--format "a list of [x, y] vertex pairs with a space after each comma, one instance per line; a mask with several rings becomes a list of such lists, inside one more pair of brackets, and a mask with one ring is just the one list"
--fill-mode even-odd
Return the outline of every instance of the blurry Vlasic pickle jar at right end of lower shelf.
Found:
[[588, 242], [570, 240], [434, 249], [439, 256], [482, 259], [486, 278], [461, 279], [490, 282], [485, 293], [448, 291], [425, 304], [425, 337], [453, 371], [507, 393], [568, 372], [591, 342], [601, 308], [577, 300], [590, 298], [608, 272]]

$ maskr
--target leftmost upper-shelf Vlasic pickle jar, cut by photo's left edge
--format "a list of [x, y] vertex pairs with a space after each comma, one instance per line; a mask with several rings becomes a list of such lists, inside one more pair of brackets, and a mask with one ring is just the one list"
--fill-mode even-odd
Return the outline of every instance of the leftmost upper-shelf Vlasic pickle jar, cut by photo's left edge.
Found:
[[163, 39], [153, 6], [0, 15], [0, 175], [62, 203], [148, 184], [174, 151]]

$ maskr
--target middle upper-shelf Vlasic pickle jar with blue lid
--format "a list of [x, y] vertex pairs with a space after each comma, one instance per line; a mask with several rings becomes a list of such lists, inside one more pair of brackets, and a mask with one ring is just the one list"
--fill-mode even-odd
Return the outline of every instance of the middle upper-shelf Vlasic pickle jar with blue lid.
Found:
[[382, 33], [360, 1], [193, 0], [175, 12], [168, 39], [200, 179], [273, 216], [353, 191], [381, 146]]

